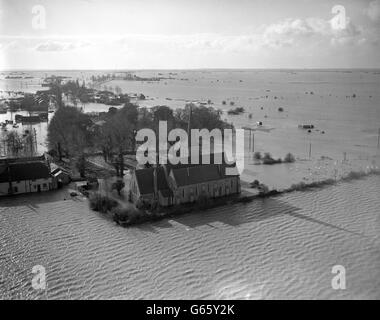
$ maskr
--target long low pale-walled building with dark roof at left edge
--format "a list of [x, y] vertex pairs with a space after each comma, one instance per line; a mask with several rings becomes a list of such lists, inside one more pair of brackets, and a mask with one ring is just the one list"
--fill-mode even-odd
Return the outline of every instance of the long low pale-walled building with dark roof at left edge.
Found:
[[45, 161], [0, 163], [0, 196], [43, 192], [54, 189], [49, 165]]

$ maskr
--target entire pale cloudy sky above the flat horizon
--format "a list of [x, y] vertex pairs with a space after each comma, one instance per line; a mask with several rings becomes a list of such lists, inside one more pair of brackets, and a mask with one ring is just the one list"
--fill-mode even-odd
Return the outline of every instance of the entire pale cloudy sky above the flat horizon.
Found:
[[0, 0], [2, 69], [374, 67], [380, 0]]

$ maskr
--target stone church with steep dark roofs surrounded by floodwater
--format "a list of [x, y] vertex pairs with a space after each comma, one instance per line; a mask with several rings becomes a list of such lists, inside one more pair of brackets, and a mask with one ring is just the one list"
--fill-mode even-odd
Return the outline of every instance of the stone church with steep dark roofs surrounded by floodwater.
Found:
[[[227, 168], [233, 174], [227, 174]], [[230, 173], [230, 172], [229, 172]], [[180, 205], [240, 193], [236, 164], [178, 164], [137, 169], [132, 173], [130, 200]]]

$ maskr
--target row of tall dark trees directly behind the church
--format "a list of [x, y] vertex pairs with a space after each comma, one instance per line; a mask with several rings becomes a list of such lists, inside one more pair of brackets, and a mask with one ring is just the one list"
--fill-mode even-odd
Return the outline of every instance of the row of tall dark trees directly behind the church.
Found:
[[59, 159], [75, 160], [81, 176], [85, 175], [86, 155], [101, 152], [104, 160], [114, 165], [118, 176], [123, 175], [124, 155], [135, 153], [138, 130], [149, 128], [158, 135], [159, 121], [167, 121], [168, 130], [187, 130], [191, 110], [191, 128], [231, 128], [221, 119], [222, 112], [211, 107], [186, 105], [171, 109], [168, 106], [139, 107], [127, 102], [117, 109], [93, 117], [76, 107], [58, 108], [48, 126], [50, 153]]

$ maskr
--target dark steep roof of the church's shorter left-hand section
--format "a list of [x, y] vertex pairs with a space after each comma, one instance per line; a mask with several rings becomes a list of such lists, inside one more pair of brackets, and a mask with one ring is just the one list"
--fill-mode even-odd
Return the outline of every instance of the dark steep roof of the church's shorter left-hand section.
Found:
[[[135, 170], [136, 181], [141, 194], [154, 193], [153, 173], [154, 168]], [[169, 185], [165, 176], [165, 171], [162, 167], [157, 168], [157, 189], [159, 191], [169, 189]]]

